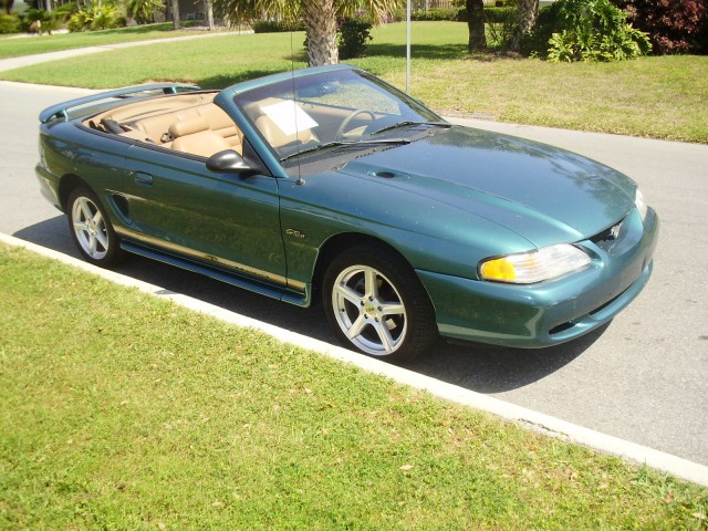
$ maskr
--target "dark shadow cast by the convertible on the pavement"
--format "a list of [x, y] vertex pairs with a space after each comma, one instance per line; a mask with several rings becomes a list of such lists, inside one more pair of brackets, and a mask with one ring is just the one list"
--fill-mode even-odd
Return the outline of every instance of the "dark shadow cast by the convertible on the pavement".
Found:
[[[64, 216], [27, 227], [13, 236], [81, 258]], [[285, 304], [137, 256], [131, 256], [115, 271], [251, 319], [336, 344], [321, 308], [309, 310]], [[532, 384], [568, 365], [597, 341], [606, 327], [602, 326], [571, 343], [542, 350], [457, 345], [439, 341], [428, 355], [400, 365], [478, 393], [503, 393]]]

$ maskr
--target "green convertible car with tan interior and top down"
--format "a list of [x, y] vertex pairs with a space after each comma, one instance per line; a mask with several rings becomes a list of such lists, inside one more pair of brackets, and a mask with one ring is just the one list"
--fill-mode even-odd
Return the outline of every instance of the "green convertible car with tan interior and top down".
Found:
[[306, 69], [201, 91], [142, 85], [40, 115], [37, 175], [83, 257], [125, 251], [302, 306], [347, 346], [573, 340], [652, 272], [636, 184], [465, 128], [367, 72]]

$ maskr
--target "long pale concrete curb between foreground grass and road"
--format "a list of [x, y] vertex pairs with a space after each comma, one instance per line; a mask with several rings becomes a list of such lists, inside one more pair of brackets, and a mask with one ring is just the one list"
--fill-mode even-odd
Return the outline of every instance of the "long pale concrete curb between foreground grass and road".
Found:
[[90, 273], [103, 277], [116, 284], [136, 288], [144, 293], [168, 299], [183, 308], [214, 316], [220, 321], [264, 332], [284, 343], [290, 343], [302, 348], [319, 352], [334, 360], [351, 363], [371, 373], [389, 377], [396, 382], [410, 385], [412, 387], [420, 391], [426, 391], [438, 398], [483, 410], [544, 435], [590, 447], [604, 454], [611, 454], [635, 464], [646, 465], [649, 468], [708, 487], [708, 466], [693, 462], [618, 437], [601, 434], [600, 431], [584, 428], [521, 406], [509, 404], [498, 398], [458, 387], [446, 382], [440, 382], [403, 367], [389, 365], [379, 360], [356, 354], [346, 348], [331, 345], [323, 341], [313, 340], [312, 337], [227, 311], [214, 304], [165, 290], [160, 287], [149, 284], [114, 271], [97, 268], [82, 260], [12, 236], [0, 233], [0, 241], [8, 246], [21, 247], [38, 254], [59, 260], [67, 266], [73, 266]]

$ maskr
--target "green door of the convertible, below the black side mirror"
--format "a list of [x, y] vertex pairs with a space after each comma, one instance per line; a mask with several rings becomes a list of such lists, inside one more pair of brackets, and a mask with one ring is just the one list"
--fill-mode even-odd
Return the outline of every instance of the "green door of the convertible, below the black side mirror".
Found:
[[277, 178], [210, 171], [204, 158], [140, 144], [125, 169], [129, 238], [287, 283]]

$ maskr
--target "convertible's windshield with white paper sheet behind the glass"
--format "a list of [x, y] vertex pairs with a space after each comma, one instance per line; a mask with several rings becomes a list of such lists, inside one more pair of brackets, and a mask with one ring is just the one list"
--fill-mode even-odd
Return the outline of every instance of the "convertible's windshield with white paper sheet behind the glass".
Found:
[[238, 94], [235, 101], [281, 162], [332, 149], [406, 144], [418, 127], [448, 125], [356, 70], [294, 77]]

